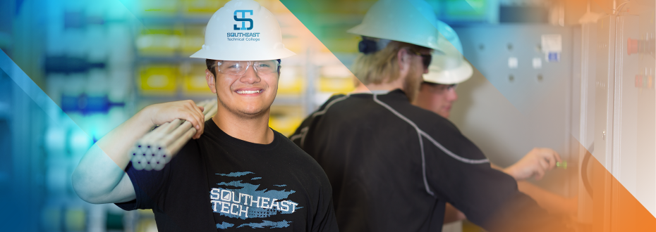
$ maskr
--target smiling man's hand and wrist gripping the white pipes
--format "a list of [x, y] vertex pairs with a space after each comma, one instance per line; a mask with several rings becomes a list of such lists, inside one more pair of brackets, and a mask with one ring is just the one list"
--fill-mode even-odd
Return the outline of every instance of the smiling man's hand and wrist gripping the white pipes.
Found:
[[152, 125], [161, 125], [178, 118], [191, 122], [196, 129], [196, 134], [192, 138], [200, 138], [205, 125], [205, 115], [202, 114], [202, 110], [201, 106], [186, 100], [148, 105], [142, 112], [147, 119], [150, 119]]

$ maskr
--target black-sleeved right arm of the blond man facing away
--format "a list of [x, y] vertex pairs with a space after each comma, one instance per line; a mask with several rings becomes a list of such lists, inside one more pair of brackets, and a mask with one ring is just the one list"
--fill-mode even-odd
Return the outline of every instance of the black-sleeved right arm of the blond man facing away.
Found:
[[[449, 143], [442, 143], [446, 144], [444, 148], [453, 155], [462, 155], [464, 160], [442, 152], [427, 155], [432, 167], [429, 181], [438, 198], [450, 202], [487, 231], [567, 231], [564, 221], [520, 193], [512, 176], [492, 169], [489, 163], [471, 163], [470, 160], [485, 159], [485, 155], [467, 138], [458, 131], [444, 133], [435, 136], [441, 136], [440, 140], [448, 138]], [[430, 152], [435, 148], [427, 149]]]

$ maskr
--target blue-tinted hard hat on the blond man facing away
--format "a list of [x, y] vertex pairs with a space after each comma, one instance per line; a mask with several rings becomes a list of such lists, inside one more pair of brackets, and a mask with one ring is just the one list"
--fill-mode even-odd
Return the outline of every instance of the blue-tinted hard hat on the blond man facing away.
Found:
[[432, 10], [420, 11], [416, 6], [432, 9], [425, 1], [377, 1], [369, 8], [362, 23], [347, 32], [438, 49], [439, 32], [431, 23], [437, 16]]

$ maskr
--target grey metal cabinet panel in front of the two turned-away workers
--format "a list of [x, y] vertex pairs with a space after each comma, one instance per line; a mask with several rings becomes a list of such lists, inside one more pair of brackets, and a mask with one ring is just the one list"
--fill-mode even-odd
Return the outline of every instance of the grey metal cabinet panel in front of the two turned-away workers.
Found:
[[[570, 161], [576, 159], [569, 157], [569, 143], [578, 27], [480, 25], [454, 29], [475, 72], [458, 85], [459, 98], [450, 120], [502, 167], [534, 147], [553, 148], [576, 167]], [[549, 57], [542, 40], [554, 37], [560, 38], [561, 51]], [[573, 169], [556, 169], [537, 184], [569, 196], [576, 183], [564, 178], [567, 172]]]

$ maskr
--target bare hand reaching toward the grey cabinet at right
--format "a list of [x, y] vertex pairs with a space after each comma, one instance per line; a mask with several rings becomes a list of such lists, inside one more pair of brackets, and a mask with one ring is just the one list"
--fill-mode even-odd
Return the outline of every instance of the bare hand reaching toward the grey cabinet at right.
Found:
[[504, 172], [518, 181], [529, 179], [532, 176], [539, 180], [545, 176], [545, 172], [556, 167], [556, 162], [561, 162], [561, 159], [555, 150], [533, 148], [521, 160], [504, 169]]

